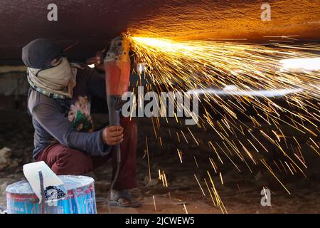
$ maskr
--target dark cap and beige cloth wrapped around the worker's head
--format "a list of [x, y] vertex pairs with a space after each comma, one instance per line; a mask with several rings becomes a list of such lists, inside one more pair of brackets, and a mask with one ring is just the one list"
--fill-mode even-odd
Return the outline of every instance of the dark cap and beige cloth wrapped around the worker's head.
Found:
[[[51, 98], [72, 98], [77, 67], [62, 56], [62, 48], [53, 41], [38, 38], [22, 49], [23, 63], [28, 66], [28, 82], [38, 92]], [[58, 66], [51, 66], [62, 58]]]

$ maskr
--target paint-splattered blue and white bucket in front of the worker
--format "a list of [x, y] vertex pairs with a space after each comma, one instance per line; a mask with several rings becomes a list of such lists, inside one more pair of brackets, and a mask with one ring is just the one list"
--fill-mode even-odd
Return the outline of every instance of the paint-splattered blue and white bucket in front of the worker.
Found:
[[[54, 201], [46, 201], [46, 214], [97, 214], [95, 180], [85, 176], [58, 177], [63, 181], [68, 194]], [[39, 199], [27, 180], [6, 187], [6, 202], [8, 214], [41, 213]]]

